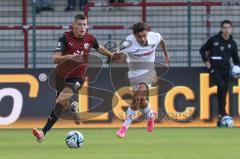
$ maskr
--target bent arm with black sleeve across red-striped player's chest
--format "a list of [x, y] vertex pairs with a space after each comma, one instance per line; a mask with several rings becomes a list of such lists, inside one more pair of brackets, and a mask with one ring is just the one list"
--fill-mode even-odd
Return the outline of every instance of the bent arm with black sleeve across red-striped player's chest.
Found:
[[55, 49], [55, 53], [53, 55], [53, 63], [54, 64], [60, 64], [66, 60], [72, 59], [77, 55], [64, 55], [65, 49], [66, 49], [66, 45], [67, 45], [67, 40], [65, 35], [61, 35], [58, 43], [57, 43], [57, 47]]

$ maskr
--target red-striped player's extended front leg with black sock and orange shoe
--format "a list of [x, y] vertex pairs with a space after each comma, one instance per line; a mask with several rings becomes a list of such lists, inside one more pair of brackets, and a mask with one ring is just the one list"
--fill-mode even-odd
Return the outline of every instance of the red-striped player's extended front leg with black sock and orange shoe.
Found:
[[48, 116], [47, 123], [42, 130], [34, 128], [32, 130], [33, 135], [36, 137], [38, 142], [44, 140], [46, 133], [53, 127], [53, 125], [58, 121], [61, 114], [68, 109], [69, 99], [73, 95], [73, 91], [69, 87], [65, 87], [60, 93], [56, 100], [56, 106], [52, 110], [51, 114]]

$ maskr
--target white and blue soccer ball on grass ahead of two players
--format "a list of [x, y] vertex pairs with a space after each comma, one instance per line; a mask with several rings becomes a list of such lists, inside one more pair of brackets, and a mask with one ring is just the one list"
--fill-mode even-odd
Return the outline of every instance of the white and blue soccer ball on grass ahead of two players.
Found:
[[69, 148], [79, 148], [83, 145], [84, 137], [78, 131], [70, 131], [66, 138], [65, 142]]

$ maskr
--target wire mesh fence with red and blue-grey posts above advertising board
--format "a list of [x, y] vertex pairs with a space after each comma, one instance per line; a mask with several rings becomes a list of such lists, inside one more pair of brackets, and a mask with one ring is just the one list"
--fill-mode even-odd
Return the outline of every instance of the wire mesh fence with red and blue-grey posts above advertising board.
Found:
[[[88, 16], [89, 31], [102, 45], [116, 49], [137, 21], [148, 23], [167, 42], [172, 66], [202, 66], [198, 50], [206, 39], [230, 19], [240, 42], [240, 4], [224, 2], [141, 2], [85, 5], [83, 11], [65, 12], [59, 0], [54, 11], [36, 13], [35, 0], [0, 2], [0, 68], [51, 68], [52, 52], [61, 33], [71, 27], [77, 13]], [[93, 54], [95, 51], [93, 50]], [[161, 50], [157, 59], [163, 62]], [[102, 57], [104, 59], [104, 57]]]

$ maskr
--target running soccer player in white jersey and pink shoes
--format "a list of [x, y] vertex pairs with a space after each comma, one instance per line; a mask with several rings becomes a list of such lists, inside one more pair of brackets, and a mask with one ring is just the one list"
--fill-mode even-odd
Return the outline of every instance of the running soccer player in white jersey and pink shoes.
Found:
[[138, 22], [133, 25], [133, 34], [129, 35], [119, 48], [119, 52], [127, 55], [128, 78], [133, 90], [132, 104], [127, 109], [126, 120], [117, 132], [117, 136], [121, 138], [125, 137], [137, 110], [147, 117], [147, 131], [152, 132], [154, 128], [156, 114], [147, 101], [147, 95], [151, 85], [159, 80], [154, 67], [158, 45], [163, 50], [165, 63], [169, 65], [170, 58], [162, 36], [159, 33], [148, 32], [148, 25]]

